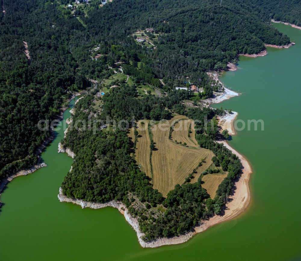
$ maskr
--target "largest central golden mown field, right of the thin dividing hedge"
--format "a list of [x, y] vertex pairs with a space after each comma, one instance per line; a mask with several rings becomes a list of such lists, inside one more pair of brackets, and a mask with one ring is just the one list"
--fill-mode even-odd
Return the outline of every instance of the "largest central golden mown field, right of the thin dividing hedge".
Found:
[[192, 183], [196, 182], [201, 173], [212, 164], [213, 152], [210, 150], [198, 146], [185, 147], [169, 140], [170, 124], [182, 118], [182, 115], [177, 115], [169, 121], [160, 122], [151, 127], [156, 147], [151, 159], [154, 173], [153, 184], [163, 196], [174, 189], [176, 184], [184, 183], [185, 178], [198, 167], [200, 161], [205, 159], [206, 164], [197, 169], [197, 173], [191, 180]]

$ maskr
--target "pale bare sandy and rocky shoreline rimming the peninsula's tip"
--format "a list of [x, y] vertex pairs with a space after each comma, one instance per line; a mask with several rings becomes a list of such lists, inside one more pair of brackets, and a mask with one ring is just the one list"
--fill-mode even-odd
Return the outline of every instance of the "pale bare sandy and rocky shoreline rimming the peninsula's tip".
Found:
[[[237, 112], [233, 112], [233, 114], [227, 113], [225, 116], [222, 117], [222, 128], [233, 126], [233, 121], [235, 120], [237, 116]], [[230, 133], [230, 130], [229, 130]], [[234, 128], [231, 128], [231, 135], [234, 135], [235, 131]], [[147, 248], [154, 248], [154, 247], [160, 247], [163, 245], [173, 245], [173, 244], [181, 244], [184, 242], [187, 242], [190, 238], [192, 238], [197, 233], [203, 232], [206, 229], [208, 229], [211, 226], [214, 226], [216, 224], [231, 220], [238, 216], [240, 213], [244, 212], [244, 210], [247, 209], [249, 203], [250, 203], [250, 187], [249, 187], [249, 179], [250, 174], [252, 173], [251, 166], [249, 162], [246, 160], [244, 156], [242, 156], [240, 153], [238, 153], [236, 150], [234, 150], [226, 141], [218, 141], [219, 143], [223, 143], [228, 149], [230, 149], [234, 154], [238, 156], [240, 159], [243, 169], [241, 177], [236, 181], [235, 183], [235, 191], [232, 196], [230, 196], [230, 201], [226, 204], [225, 212], [222, 216], [215, 215], [211, 217], [209, 220], [204, 220], [200, 223], [200, 225], [195, 226], [192, 231], [187, 232], [180, 236], [174, 236], [171, 238], [158, 238], [156, 240], [150, 241], [150, 242], [144, 242], [142, 240], [142, 237], [144, 234], [140, 231], [138, 219], [132, 217], [126, 206], [119, 201], [109, 201], [106, 203], [95, 203], [95, 202], [88, 202], [83, 201], [79, 199], [74, 198], [68, 198], [67, 196], [63, 195], [62, 189], [59, 189], [58, 198], [61, 202], [69, 202], [73, 204], [80, 205], [82, 208], [90, 207], [93, 209], [99, 209], [104, 207], [115, 207], [119, 210], [120, 213], [122, 213], [125, 216], [126, 221], [132, 226], [132, 228], [137, 233], [138, 241], [141, 245], [141, 247], [147, 247]], [[60, 150], [60, 149], [59, 149]], [[61, 152], [67, 152], [68, 148], [66, 148], [65, 151]], [[74, 155], [73, 152], [69, 149], [70, 156]], [[59, 151], [60, 152], [60, 151]]]

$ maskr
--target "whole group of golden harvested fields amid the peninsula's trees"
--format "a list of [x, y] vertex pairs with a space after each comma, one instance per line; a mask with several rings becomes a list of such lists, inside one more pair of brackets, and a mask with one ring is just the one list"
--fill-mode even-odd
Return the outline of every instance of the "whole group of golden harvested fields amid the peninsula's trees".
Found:
[[[160, 121], [151, 126], [149, 124], [149, 120], [137, 122], [138, 139], [134, 156], [141, 170], [152, 178], [154, 189], [158, 189], [164, 197], [170, 190], [174, 189], [176, 184], [183, 184], [185, 178], [195, 168], [197, 173], [193, 174], [194, 178], [191, 183], [197, 182], [203, 171], [213, 164], [211, 161], [214, 156], [213, 152], [200, 148], [197, 144], [194, 122], [191, 119], [183, 115], [176, 115], [168, 121]], [[171, 139], [169, 139], [170, 126], [173, 126]], [[189, 127], [190, 137], [188, 137]], [[148, 128], [151, 130], [155, 144], [151, 160], [151, 138]], [[134, 129], [130, 130], [129, 136], [134, 142]], [[182, 144], [179, 144], [180, 142]], [[183, 146], [184, 143], [187, 145]], [[202, 165], [199, 167], [201, 161]], [[202, 186], [212, 198], [214, 198], [217, 187], [225, 176], [226, 174], [207, 174], [202, 178], [204, 181]]]

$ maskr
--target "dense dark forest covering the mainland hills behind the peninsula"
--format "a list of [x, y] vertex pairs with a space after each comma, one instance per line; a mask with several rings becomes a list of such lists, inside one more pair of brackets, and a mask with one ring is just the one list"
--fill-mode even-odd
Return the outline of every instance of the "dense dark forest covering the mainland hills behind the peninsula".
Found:
[[[264, 43], [289, 39], [271, 18], [299, 24], [299, 1], [114, 0], [80, 5], [76, 17], [64, 1], [2, 1], [0, 12], [0, 175], [33, 164], [37, 146], [50, 135], [39, 119], [53, 119], [71, 92], [102, 79], [107, 66], [132, 64], [138, 81], [169, 89], [184, 82], [206, 85], [206, 70], [225, 69], [239, 53], [256, 53]], [[85, 15], [87, 14], [87, 15]], [[79, 19], [77, 19], [79, 18]], [[82, 21], [82, 23], [80, 22]], [[83, 26], [84, 25], [84, 26]], [[141, 48], [131, 33], [153, 27], [157, 48]], [[30, 59], [24, 53], [28, 44]], [[104, 59], [91, 60], [98, 44]], [[143, 61], [146, 70], [136, 70]], [[165, 87], [165, 91], [168, 88]], [[211, 94], [210, 87], [207, 96]]]

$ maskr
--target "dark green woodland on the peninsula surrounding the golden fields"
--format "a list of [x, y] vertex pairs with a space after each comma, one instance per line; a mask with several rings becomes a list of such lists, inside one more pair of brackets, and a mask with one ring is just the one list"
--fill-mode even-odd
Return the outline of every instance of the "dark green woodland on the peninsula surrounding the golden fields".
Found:
[[[131, 116], [137, 119], [167, 118], [166, 115], [170, 115], [173, 110], [179, 111], [188, 92], [171, 91], [169, 95], [161, 98], [147, 95], [147, 98], [137, 99], [137, 92], [123, 84], [103, 97], [104, 111], [95, 121], [90, 121], [90, 128], [76, 129], [74, 126], [77, 120], [88, 122], [89, 115], [94, 113], [96, 93], [97, 90], [93, 90], [76, 104], [70, 131], [61, 142], [76, 154], [72, 170], [67, 173], [62, 184], [64, 194], [86, 201], [122, 201], [129, 212], [138, 218], [146, 241], [180, 235], [190, 230], [201, 219], [221, 213], [223, 205], [232, 193], [234, 179], [241, 170], [237, 156], [214, 141], [218, 135], [216, 126], [204, 128], [205, 119], [211, 121], [214, 116], [224, 113], [223, 110], [182, 108], [183, 115], [193, 115], [194, 119], [199, 120], [197, 127], [200, 131], [197, 140], [200, 146], [211, 149], [216, 155], [215, 164], [220, 164], [223, 170], [228, 171], [228, 176], [218, 188], [216, 198], [209, 198], [201, 186], [201, 178], [195, 183], [176, 185], [175, 189], [163, 198], [161, 193], [152, 188], [149, 178], [139, 170], [130, 156], [132, 145], [126, 132], [118, 128], [115, 132], [103, 131], [97, 120], [104, 120], [106, 116], [116, 120], [131, 119]], [[167, 108], [166, 115], [162, 115], [162, 109], [158, 109], [161, 114], [153, 113], [159, 106]]]

